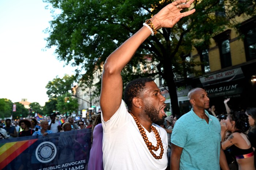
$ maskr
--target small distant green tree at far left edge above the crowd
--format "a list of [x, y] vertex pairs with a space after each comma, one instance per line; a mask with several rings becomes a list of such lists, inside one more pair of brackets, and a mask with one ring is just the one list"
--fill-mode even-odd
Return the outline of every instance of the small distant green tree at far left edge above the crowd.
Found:
[[0, 99], [0, 118], [11, 117], [12, 105], [13, 103], [9, 99]]

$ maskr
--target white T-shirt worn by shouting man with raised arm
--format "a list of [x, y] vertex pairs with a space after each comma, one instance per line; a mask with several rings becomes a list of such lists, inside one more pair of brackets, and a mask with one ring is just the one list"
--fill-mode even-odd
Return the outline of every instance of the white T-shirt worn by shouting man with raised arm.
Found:
[[[103, 166], [104, 170], [165, 170], [167, 167], [167, 133], [158, 125], [157, 129], [162, 143], [162, 159], [155, 159], [149, 152], [131, 114], [128, 113], [124, 101], [117, 112], [104, 122], [103, 126]], [[145, 128], [144, 128], [145, 129]], [[145, 129], [148, 140], [157, 146], [155, 133]], [[157, 152], [159, 156], [161, 149]]]

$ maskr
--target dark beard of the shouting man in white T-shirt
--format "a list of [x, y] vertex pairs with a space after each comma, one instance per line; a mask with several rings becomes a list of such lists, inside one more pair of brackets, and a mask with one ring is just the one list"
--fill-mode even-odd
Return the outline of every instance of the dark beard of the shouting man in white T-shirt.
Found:
[[145, 105], [144, 112], [154, 124], [163, 125], [163, 123], [165, 122], [164, 117], [159, 117], [160, 110], [157, 110], [154, 106], [148, 103]]

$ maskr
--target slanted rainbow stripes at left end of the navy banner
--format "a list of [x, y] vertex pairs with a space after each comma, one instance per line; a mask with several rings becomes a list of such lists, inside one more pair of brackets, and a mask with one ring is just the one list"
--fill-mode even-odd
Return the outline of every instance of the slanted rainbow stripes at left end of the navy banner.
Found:
[[37, 140], [38, 139], [23, 140], [0, 144], [0, 169], [7, 166], [10, 162], [12, 162], [12, 160], [14, 160]]

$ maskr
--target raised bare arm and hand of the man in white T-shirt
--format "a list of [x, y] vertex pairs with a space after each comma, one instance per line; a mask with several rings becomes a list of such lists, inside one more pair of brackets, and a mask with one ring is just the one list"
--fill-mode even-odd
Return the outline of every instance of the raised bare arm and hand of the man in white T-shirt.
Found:
[[[180, 13], [182, 8], [189, 8], [194, 0], [176, 0], [166, 5], [150, 20], [155, 30], [162, 27], [173, 27], [182, 17], [195, 12], [195, 9]], [[184, 3], [184, 4], [181, 4]], [[101, 82], [101, 110], [104, 121], [108, 121], [121, 104], [123, 94], [123, 80], [121, 71], [132, 59], [139, 46], [151, 35], [151, 31], [143, 26], [137, 33], [127, 39], [107, 58], [102, 73]]]

